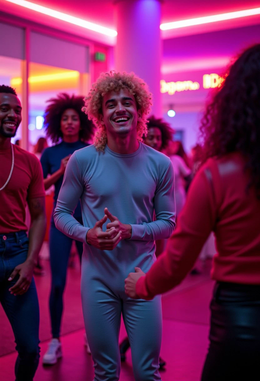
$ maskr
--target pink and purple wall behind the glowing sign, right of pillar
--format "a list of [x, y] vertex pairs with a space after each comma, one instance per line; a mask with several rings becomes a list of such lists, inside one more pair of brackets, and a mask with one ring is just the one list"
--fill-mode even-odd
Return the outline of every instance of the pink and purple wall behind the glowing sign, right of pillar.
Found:
[[[254, 43], [260, 43], [260, 25], [163, 40], [162, 79], [200, 83], [199, 90], [162, 94], [163, 117], [174, 129], [184, 131], [188, 152], [197, 141], [202, 111], [212, 91], [203, 88], [203, 74], [225, 74], [226, 63]], [[170, 104], [176, 110], [173, 118], [166, 114]]]

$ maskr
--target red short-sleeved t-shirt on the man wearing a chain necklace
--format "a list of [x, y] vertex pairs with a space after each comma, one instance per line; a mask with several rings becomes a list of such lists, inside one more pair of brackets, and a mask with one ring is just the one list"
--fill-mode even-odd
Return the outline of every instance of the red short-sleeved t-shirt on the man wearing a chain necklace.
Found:
[[[27, 200], [45, 197], [43, 172], [38, 158], [19, 146], [14, 148], [14, 169], [10, 181], [0, 191], [0, 234], [26, 231]], [[11, 148], [0, 150], [0, 187], [10, 174]]]

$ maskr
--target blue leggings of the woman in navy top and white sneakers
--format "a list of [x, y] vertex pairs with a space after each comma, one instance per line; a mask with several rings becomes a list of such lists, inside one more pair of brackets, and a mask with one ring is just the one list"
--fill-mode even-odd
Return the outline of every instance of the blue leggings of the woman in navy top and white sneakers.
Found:
[[[79, 219], [79, 223], [82, 220]], [[50, 263], [51, 263], [51, 295], [49, 299], [52, 337], [60, 336], [60, 324], [63, 312], [63, 292], [66, 284], [68, 259], [73, 239], [60, 232], [51, 223], [50, 229]], [[79, 258], [81, 261], [83, 243], [76, 242]]]

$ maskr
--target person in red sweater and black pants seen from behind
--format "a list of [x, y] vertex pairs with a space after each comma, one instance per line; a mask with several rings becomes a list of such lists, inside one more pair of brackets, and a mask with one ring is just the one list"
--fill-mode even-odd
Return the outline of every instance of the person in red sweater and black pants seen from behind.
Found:
[[[260, 44], [247, 49], [206, 109], [206, 162], [190, 186], [166, 252], [128, 275], [132, 298], [178, 285], [211, 231], [216, 237], [209, 351], [203, 381], [253, 380], [260, 358]], [[137, 270], [138, 271], [138, 270]]]

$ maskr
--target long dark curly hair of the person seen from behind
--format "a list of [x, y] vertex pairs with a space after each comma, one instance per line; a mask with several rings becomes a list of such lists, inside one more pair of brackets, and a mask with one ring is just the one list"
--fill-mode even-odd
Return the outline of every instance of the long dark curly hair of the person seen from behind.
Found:
[[260, 198], [260, 44], [230, 66], [201, 120], [204, 161], [239, 151], [246, 158], [250, 186]]

